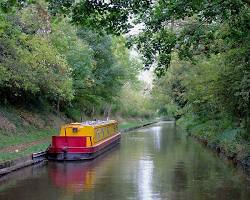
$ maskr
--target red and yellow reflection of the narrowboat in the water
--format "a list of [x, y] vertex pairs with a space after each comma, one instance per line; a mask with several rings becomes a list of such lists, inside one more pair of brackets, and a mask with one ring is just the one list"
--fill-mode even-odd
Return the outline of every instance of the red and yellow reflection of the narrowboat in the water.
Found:
[[98, 158], [85, 161], [50, 162], [49, 176], [53, 184], [61, 189], [79, 193], [91, 190], [96, 184], [97, 177], [102, 177], [111, 167], [110, 156], [114, 156], [119, 146]]

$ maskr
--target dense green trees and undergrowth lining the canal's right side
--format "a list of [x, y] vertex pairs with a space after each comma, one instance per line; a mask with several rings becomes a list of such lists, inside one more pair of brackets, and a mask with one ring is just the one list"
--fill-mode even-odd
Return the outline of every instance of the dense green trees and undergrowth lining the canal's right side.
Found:
[[[164, 9], [167, 16], [162, 17]], [[242, 151], [239, 144], [247, 146], [250, 141], [249, 3], [158, 1], [147, 20], [139, 41], [149, 42], [151, 50], [140, 48], [158, 63], [161, 57], [167, 59], [156, 69], [162, 76], [153, 91], [156, 108], [180, 118], [199, 138], [231, 152]], [[152, 41], [164, 29], [175, 37], [170, 42], [162, 42], [162, 37]], [[171, 50], [159, 51], [165, 45]]]

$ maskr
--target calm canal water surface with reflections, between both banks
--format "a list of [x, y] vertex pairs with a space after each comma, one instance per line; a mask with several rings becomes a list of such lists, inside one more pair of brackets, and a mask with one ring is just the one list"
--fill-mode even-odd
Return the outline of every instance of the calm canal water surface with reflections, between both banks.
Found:
[[210, 150], [158, 123], [122, 135], [91, 162], [48, 162], [0, 179], [1, 200], [250, 199], [250, 182]]

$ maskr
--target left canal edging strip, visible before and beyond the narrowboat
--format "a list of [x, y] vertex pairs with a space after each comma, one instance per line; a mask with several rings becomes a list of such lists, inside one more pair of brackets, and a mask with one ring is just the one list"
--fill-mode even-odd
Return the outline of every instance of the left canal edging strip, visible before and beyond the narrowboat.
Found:
[[[157, 122], [159, 121], [152, 121], [152, 122], [148, 122], [148, 123], [141, 124], [138, 126], [133, 126], [130, 128], [123, 128], [120, 131], [121, 133], [125, 133], [125, 132], [132, 131], [138, 128], [149, 126]], [[0, 177], [10, 172], [16, 171], [18, 169], [21, 169], [21, 168], [45, 161], [45, 160], [46, 160], [46, 151], [41, 151], [38, 153], [33, 153], [31, 155], [23, 156], [14, 160], [1, 162], [0, 163]]]

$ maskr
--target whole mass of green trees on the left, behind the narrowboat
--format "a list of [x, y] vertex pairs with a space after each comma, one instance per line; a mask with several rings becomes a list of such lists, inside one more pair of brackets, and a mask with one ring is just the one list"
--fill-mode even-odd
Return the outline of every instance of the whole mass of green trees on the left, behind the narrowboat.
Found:
[[51, 105], [76, 120], [112, 109], [122, 115], [124, 85], [133, 83], [142, 68], [125, 38], [53, 17], [50, 5], [42, 0], [1, 3], [1, 103]]

